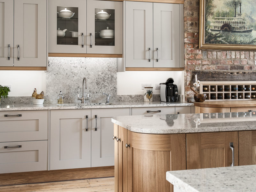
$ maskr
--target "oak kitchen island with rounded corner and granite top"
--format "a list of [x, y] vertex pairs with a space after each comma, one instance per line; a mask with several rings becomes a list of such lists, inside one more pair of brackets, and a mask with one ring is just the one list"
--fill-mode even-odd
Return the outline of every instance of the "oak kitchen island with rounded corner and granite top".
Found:
[[167, 171], [256, 164], [256, 116], [249, 113], [112, 118], [115, 192], [173, 191]]

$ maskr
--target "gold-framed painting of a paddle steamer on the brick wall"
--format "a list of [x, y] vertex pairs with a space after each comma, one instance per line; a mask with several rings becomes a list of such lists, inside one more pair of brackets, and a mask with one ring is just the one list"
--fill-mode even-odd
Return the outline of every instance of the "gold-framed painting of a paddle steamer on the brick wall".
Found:
[[199, 49], [256, 50], [255, 0], [200, 0]]

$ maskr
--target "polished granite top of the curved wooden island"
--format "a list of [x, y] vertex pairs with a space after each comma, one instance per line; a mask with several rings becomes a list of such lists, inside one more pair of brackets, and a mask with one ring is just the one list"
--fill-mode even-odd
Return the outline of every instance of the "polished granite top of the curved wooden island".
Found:
[[256, 130], [252, 112], [118, 116], [112, 122], [132, 132], [151, 134]]

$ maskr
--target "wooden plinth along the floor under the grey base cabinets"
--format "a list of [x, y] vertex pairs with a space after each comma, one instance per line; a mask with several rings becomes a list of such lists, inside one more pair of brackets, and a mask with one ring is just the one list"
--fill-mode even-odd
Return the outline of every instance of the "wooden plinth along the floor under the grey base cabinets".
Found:
[[114, 177], [114, 166], [0, 174], [0, 186]]

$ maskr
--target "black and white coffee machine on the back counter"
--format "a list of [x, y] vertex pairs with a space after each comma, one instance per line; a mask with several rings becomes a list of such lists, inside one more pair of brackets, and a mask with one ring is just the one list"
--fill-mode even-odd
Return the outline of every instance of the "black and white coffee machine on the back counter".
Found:
[[160, 83], [160, 98], [164, 102], [177, 102], [178, 88], [173, 84], [173, 78], [168, 78], [165, 83]]

